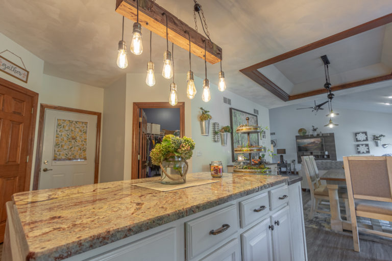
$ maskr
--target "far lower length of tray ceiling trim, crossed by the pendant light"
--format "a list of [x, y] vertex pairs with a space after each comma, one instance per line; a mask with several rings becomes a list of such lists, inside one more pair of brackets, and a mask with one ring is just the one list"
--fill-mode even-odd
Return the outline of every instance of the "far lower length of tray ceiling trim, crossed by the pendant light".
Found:
[[[378, 76], [378, 77], [374, 77], [374, 78], [370, 78], [370, 79], [357, 81], [357, 82], [341, 84], [341, 85], [336, 85], [336, 86], [332, 85], [331, 90], [333, 92], [341, 91], [341, 90], [350, 89], [350, 88], [354, 88], [354, 87], [358, 87], [358, 86], [374, 84], [374, 83], [379, 83], [379, 82], [384, 82], [384, 81], [389, 81], [389, 80], [392, 80], [392, 73]], [[327, 93], [327, 90], [325, 88], [310, 91], [310, 92], [304, 92], [304, 93], [300, 93], [300, 94], [296, 94], [296, 95], [290, 95], [289, 100], [302, 99], [302, 98], [311, 97], [311, 96], [319, 95], [319, 94], [323, 94], [323, 93], [325, 93], [325, 94]]]

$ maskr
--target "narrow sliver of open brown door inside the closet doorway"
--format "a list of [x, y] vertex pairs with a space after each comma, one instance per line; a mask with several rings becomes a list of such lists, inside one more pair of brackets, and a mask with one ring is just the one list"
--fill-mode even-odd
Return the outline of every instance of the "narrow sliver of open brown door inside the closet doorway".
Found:
[[142, 109], [139, 112], [139, 152], [138, 178], [146, 177], [147, 166], [147, 117]]

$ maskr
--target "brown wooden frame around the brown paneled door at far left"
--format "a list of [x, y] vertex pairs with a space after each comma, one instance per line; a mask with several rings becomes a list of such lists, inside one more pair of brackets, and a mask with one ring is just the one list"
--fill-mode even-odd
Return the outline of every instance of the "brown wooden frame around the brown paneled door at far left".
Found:
[[24, 191], [30, 190], [30, 179], [31, 179], [31, 172], [32, 172], [32, 164], [33, 164], [33, 152], [34, 152], [34, 137], [35, 137], [35, 124], [37, 119], [37, 107], [38, 107], [38, 93], [27, 88], [24, 88], [20, 85], [17, 85], [13, 82], [7, 81], [6, 79], [0, 77], [0, 85], [3, 85], [6, 88], [12, 89], [17, 92], [21, 92], [32, 97], [32, 108], [33, 111], [31, 112], [31, 124], [30, 124], [30, 131], [29, 131], [29, 141], [28, 141], [28, 159], [26, 166], [26, 178], [24, 179]]

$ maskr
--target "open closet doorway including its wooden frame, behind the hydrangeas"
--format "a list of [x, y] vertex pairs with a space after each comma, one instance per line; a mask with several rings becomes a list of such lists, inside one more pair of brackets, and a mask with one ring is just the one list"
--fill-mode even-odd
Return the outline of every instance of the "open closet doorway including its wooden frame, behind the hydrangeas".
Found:
[[159, 140], [166, 134], [184, 136], [185, 102], [178, 102], [176, 106], [171, 106], [167, 102], [134, 102], [132, 132], [131, 178], [151, 176], [150, 172], [147, 174], [150, 142], [155, 144], [157, 137]]

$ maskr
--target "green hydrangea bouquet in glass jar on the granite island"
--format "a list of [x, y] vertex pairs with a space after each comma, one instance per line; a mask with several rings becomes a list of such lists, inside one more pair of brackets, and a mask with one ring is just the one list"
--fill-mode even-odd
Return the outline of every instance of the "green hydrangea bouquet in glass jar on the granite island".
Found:
[[162, 170], [162, 184], [183, 184], [186, 182], [188, 163], [192, 156], [194, 141], [188, 137], [165, 135], [162, 143], [151, 150], [151, 161]]

